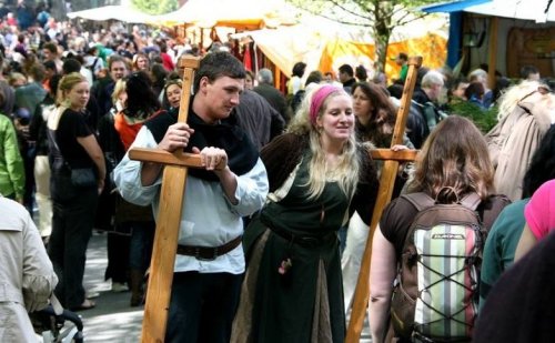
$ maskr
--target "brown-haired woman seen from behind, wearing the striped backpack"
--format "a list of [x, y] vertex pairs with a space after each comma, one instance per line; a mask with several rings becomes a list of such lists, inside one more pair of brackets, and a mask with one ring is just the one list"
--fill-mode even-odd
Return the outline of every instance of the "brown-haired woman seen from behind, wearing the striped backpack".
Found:
[[[485, 229], [490, 229], [507, 204], [494, 195], [493, 167], [480, 130], [467, 119], [450, 115], [424, 143], [415, 165], [408, 193], [423, 192], [437, 203], [451, 204], [476, 193], [476, 208]], [[383, 211], [372, 243], [370, 327], [372, 341], [384, 342], [397, 276], [410, 228], [418, 210], [404, 196], [393, 200]], [[395, 332], [401, 335], [400, 332]], [[406, 342], [402, 337], [400, 342]]]

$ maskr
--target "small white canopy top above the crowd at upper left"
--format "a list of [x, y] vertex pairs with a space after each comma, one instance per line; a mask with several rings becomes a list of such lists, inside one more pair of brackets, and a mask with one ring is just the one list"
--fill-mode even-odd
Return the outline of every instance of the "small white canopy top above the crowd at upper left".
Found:
[[125, 6], [104, 6], [94, 9], [70, 12], [70, 19], [82, 18], [94, 21], [120, 20], [124, 22], [151, 22], [152, 16]]

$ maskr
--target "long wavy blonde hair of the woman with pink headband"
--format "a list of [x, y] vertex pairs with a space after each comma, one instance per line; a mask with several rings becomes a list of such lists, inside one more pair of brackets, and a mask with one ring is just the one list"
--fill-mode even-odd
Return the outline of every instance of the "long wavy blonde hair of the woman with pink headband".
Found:
[[[309, 199], [316, 199], [324, 191], [327, 181], [337, 181], [340, 189], [345, 195], [351, 199], [354, 194], [356, 183], [359, 182], [359, 173], [361, 170], [360, 157], [356, 153], [356, 140], [354, 130], [340, 155], [340, 162], [334, 170], [330, 169], [326, 163], [325, 153], [322, 149], [321, 132], [312, 124], [310, 120], [310, 108], [313, 95], [324, 85], [315, 87], [307, 92], [301, 103], [296, 114], [293, 117], [287, 131], [299, 135], [309, 135], [310, 161], [309, 161], [309, 181], [305, 185], [309, 186]], [[321, 118], [330, 103], [330, 99], [349, 94], [343, 89], [337, 89], [327, 95], [324, 100], [317, 118]], [[349, 97], [351, 99], [351, 97]]]

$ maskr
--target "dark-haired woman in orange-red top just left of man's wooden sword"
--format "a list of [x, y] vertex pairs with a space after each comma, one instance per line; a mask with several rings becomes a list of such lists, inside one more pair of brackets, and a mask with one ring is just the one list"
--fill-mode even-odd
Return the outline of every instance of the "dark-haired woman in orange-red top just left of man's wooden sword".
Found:
[[[157, 97], [150, 87], [150, 78], [143, 71], [133, 72], [127, 79], [125, 93], [127, 101], [123, 109], [113, 117], [110, 114], [111, 120], [103, 121], [102, 125], [99, 127], [104, 154], [110, 154], [113, 158], [113, 164], [118, 164], [123, 159], [144, 121], [160, 109]], [[111, 276], [112, 282], [114, 278], [118, 278], [115, 279], [118, 282], [125, 280], [128, 264], [124, 261], [129, 261], [130, 304], [138, 306], [142, 301], [143, 274], [150, 264], [154, 239], [155, 225], [152, 210], [150, 206], [131, 204], [117, 195], [113, 219], [115, 232], [131, 232], [131, 239], [117, 233], [109, 234], [109, 260], [113, 261], [117, 271], [107, 269], [107, 279]], [[124, 249], [125, 246], [129, 249]], [[113, 273], [118, 273], [118, 275], [109, 275]], [[121, 280], [122, 278], [124, 279]]]

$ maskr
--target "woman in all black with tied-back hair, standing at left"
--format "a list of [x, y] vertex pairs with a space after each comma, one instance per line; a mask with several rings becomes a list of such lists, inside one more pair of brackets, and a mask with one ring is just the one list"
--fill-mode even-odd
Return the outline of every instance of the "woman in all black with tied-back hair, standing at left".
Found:
[[[89, 83], [70, 73], [58, 87], [58, 110], [48, 119], [50, 191], [53, 202], [49, 256], [60, 279], [56, 294], [65, 307], [87, 310], [83, 274], [98, 196], [104, 188], [105, 164], [97, 138], [84, 119]], [[78, 185], [71, 173], [92, 170], [95, 180]]]

